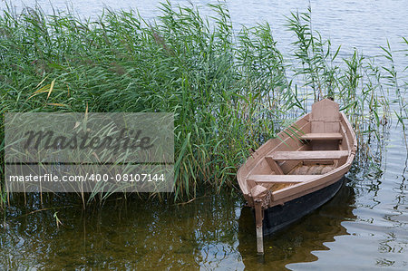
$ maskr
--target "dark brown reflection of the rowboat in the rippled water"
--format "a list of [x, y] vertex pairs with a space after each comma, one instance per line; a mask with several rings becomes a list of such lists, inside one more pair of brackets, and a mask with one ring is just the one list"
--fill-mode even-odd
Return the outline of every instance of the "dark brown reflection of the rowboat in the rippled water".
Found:
[[347, 235], [342, 222], [354, 220], [355, 192], [343, 185], [339, 192], [321, 208], [264, 240], [265, 256], [259, 260], [256, 250], [255, 223], [250, 208], [242, 208], [239, 218], [238, 251], [245, 266], [251, 269], [282, 270], [287, 264], [316, 261], [315, 250], [325, 250], [325, 242]]

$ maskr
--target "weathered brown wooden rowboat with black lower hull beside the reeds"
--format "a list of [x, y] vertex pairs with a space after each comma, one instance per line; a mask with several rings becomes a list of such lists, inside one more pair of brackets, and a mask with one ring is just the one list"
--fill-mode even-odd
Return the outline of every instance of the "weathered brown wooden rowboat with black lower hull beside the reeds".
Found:
[[312, 111], [268, 140], [238, 169], [239, 187], [255, 209], [257, 252], [263, 235], [322, 206], [340, 189], [355, 159], [355, 132], [336, 102]]

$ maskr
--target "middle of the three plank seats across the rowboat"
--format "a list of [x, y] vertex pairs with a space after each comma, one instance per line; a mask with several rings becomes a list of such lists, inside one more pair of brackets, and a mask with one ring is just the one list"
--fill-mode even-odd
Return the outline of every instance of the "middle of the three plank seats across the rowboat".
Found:
[[267, 157], [273, 160], [338, 160], [347, 156], [348, 150], [276, 151]]

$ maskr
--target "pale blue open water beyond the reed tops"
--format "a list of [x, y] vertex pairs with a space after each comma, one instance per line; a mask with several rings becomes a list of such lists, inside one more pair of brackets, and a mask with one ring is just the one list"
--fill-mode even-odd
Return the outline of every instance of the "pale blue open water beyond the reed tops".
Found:
[[[33, 6], [38, 3], [46, 13], [72, 8], [83, 17], [96, 18], [102, 14], [104, 7], [113, 10], [138, 9], [143, 18], [154, 19], [160, 15], [160, 0], [13, 0], [17, 11], [24, 5]], [[385, 46], [389, 40], [393, 50], [403, 49], [402, 36], [408, 34], [408, 1], [407, 0], [229, 0], [226, 1], [231, 20], [238, 29], [239, 24], [253, 26], [268, 22], [276, 40], [285, 51], [292, 41], [291, 34], [286, 31], [286, 18], [291, 11], [306, 11], [309, 2], [313, 12], [314, 28], [325, 38], [330, 38], [332, 44], [342, 45], [345, 52], [357, 48], [367, 56], [373, 56], [382, 51], [379, 46]], [[50, 5], [50, 3], [52, 3]], [[69, 4], [67, 4], [69, 3]], [[200, 6], [203, 14], [209, 13], [206, 4], [217, 4], [209, 0], [178, 0], [172, 4]], [[53, 6], [53, 8], [52, 8]], [[0, 0], [0, 9], [5, 8], [5, 0]], [[406, 63], [406, 61], [405, 61]]]

